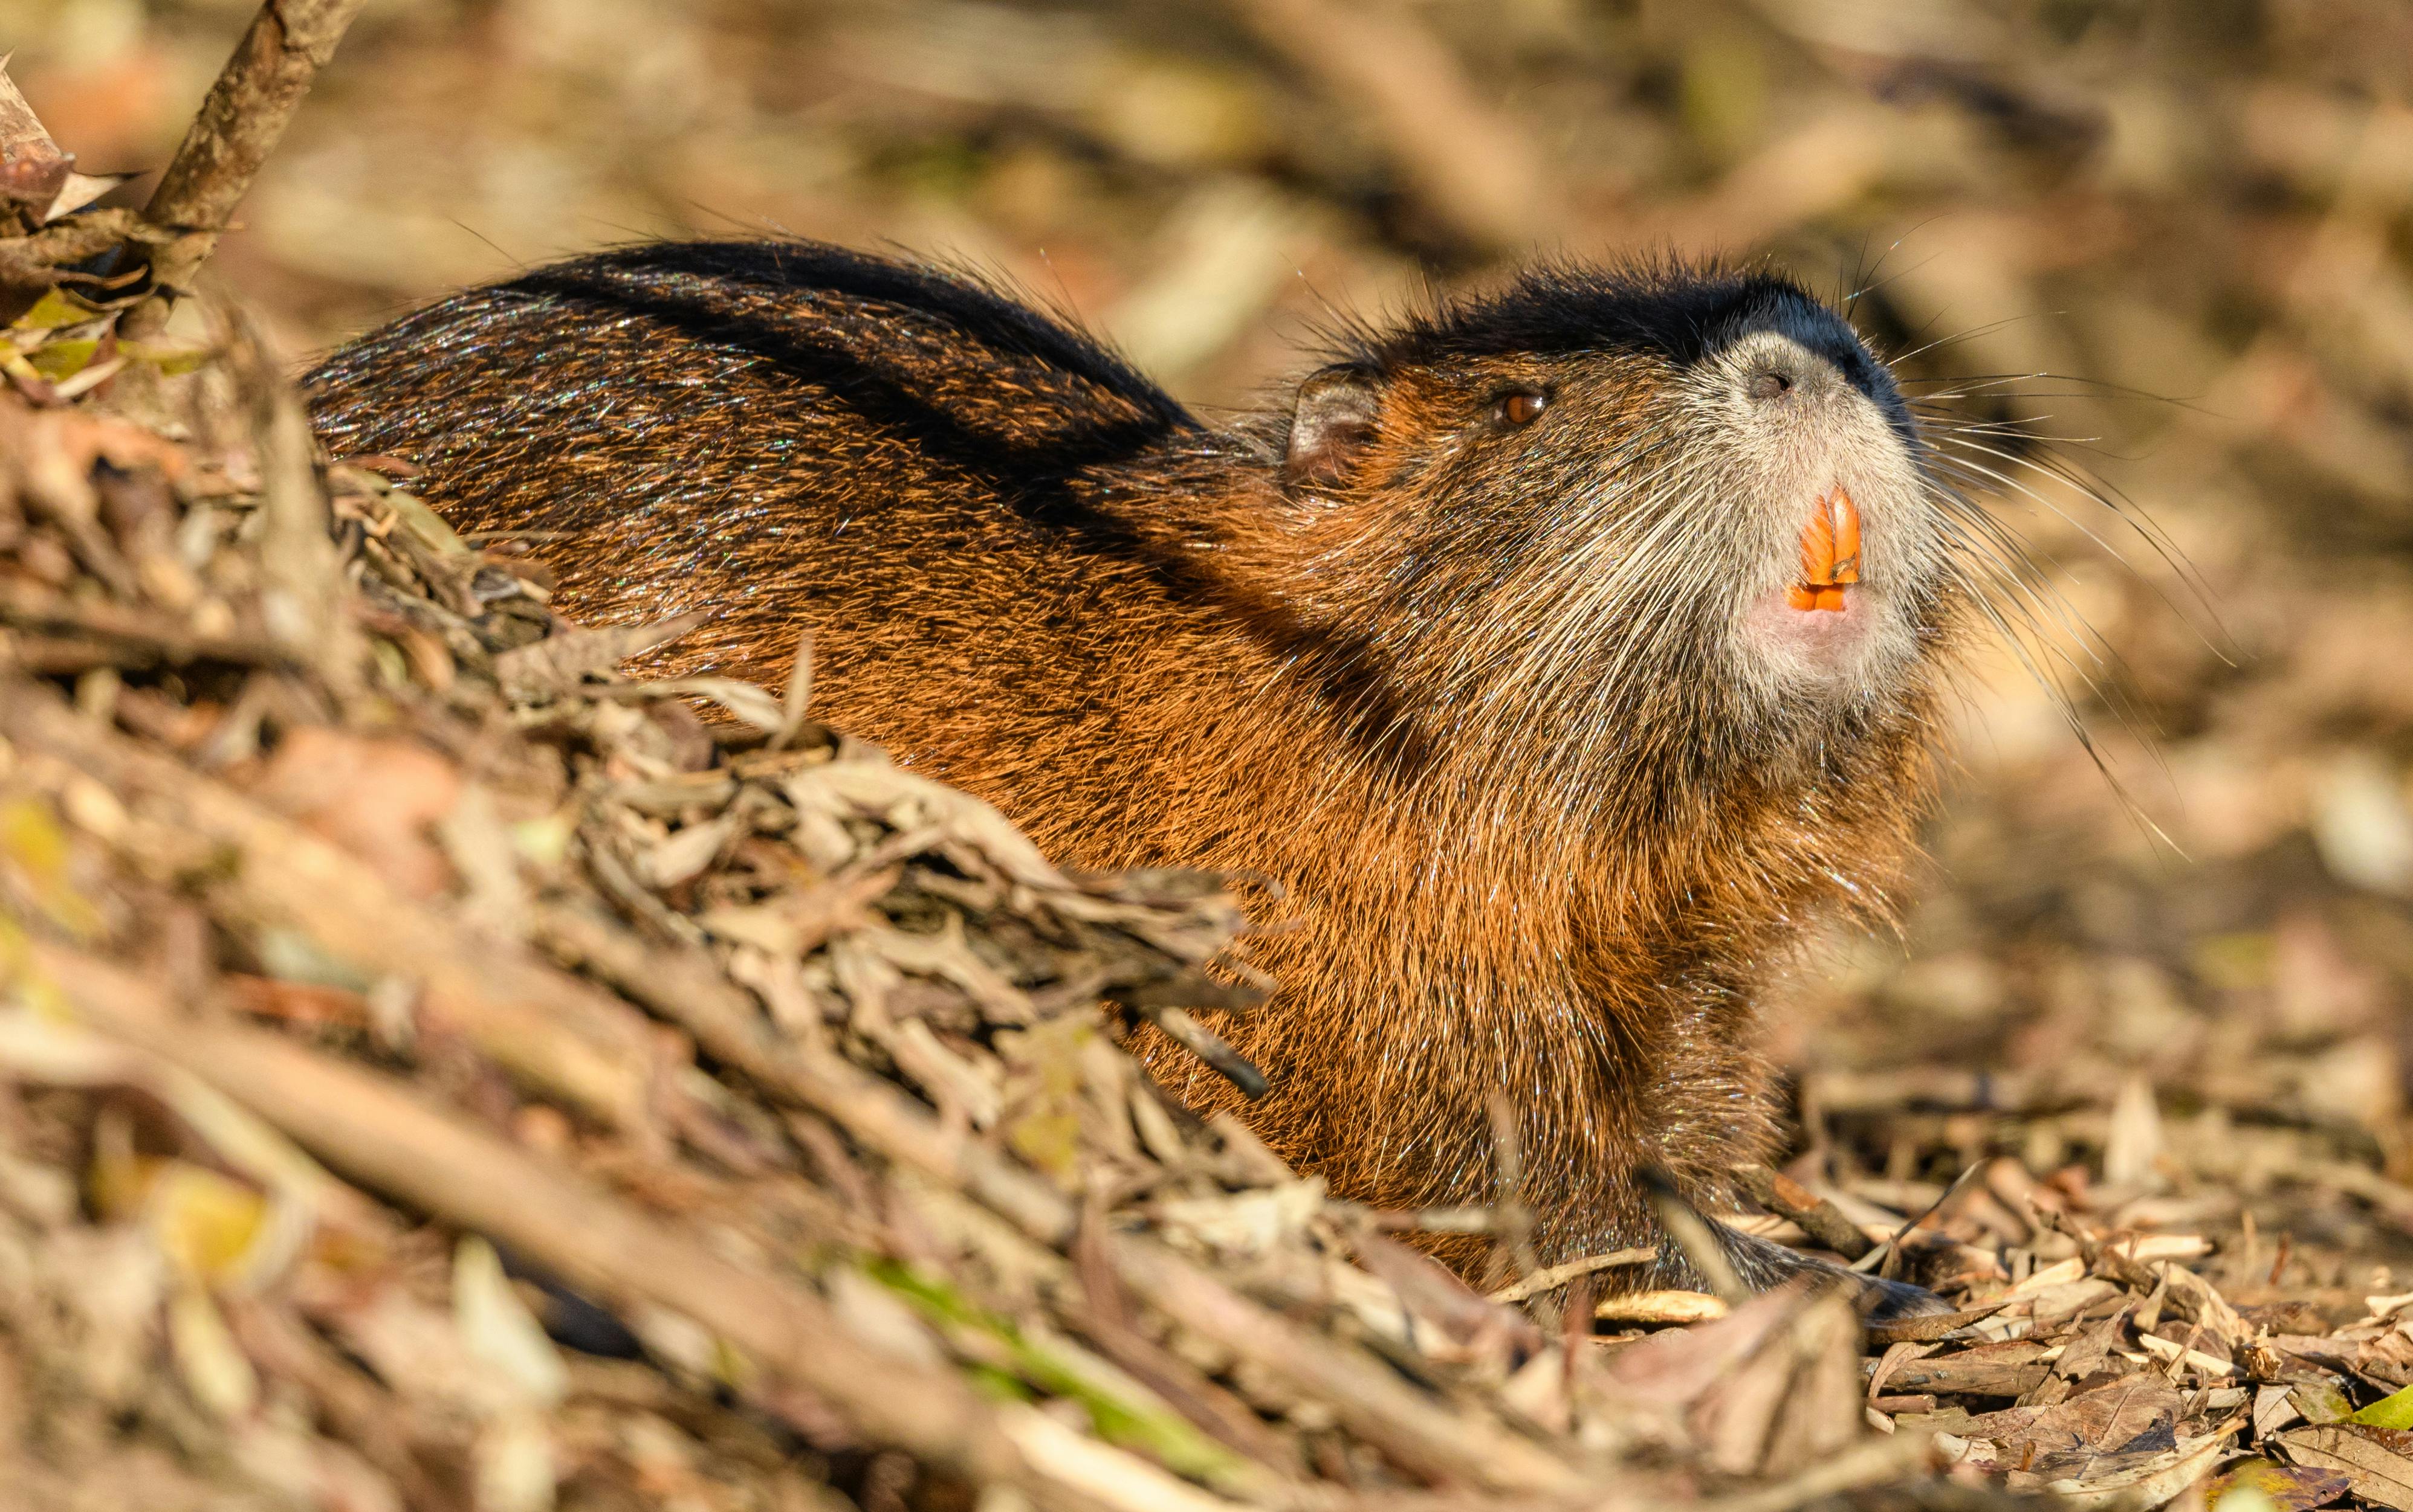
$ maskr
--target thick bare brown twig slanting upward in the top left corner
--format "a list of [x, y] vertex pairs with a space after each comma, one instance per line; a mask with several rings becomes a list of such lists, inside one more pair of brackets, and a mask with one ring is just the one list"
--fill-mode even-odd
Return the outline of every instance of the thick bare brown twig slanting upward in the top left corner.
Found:
[[166, 326], [362, 2], [268, 0], [251, 17], [142, 210], [176, 239], [152, 256], [152, 294], [128, 311], [128, 338], [147, 340]]

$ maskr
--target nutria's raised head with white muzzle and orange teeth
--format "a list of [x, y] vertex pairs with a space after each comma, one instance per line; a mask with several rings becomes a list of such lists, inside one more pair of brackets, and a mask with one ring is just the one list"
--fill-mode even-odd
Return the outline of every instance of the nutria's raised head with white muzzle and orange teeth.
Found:
[[1899, 738], [1967, 598], [1892, 371], [1769, 275], [1530, 272], [1359, 333], [1269, 441], [1284, 600], [1571, 805]]

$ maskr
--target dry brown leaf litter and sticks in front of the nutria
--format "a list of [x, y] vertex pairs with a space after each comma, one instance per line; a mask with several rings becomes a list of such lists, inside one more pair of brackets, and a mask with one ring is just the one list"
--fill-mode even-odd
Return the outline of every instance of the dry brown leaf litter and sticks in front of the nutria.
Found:
[[2259, 1150], [2413, 1223], [2372, 1165], [2133, 1076], [1831, 1076], [1728, 1218], [1955, 1312], [1622, 1293], [1648, 1254], [1484, 1297], [1402, 1240], [1508, 1215], [1337, 1201], [1127, 1054], [1228, 1056], [1221, 878], [1062, 873], [813, 721], [808, 646], [620, 675], [697, 622], [565, 620], [545, 543], [311, 453], [239, 318], [118, 306], [0, 333], [29, 1505], [2413, 1505], [2413, 1295], [2169, 1218]]

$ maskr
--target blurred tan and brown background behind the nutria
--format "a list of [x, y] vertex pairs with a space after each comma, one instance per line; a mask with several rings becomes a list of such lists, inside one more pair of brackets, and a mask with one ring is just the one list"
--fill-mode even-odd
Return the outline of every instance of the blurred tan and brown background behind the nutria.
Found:
[[[249, 12], [0, 39], [138, 171]], [[2408, 87], [2401, 0], [393, 0], [217, 275], [302, 362], [596, 244], [893, 244], [1219, 412], [1537, 253], [1786, 268], [1981, 427], [2075, 702], [1986, 654], [1901, 933], [1771, 1006], [1803, 1170], [2012, 1158], [2360, 1295], [2413, 1285]]]

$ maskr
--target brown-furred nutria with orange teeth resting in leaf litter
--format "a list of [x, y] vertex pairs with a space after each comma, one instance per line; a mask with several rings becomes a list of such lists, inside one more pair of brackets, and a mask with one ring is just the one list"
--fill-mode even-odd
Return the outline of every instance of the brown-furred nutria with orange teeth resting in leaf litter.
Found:
[[[639, 246], [309, 395], [456, 526], [572, 531], [574, 617], [717, 610], [678, 670], [779, 685], [811, 632], [825, 719], [1067, 863], [1279, 883], [1279, 991], [1219, 1025], [1250, 1124], [1344, 1196], [1479, 1203], [1503, 1100], [1542, 1261], [1655, 1235], [1643, 1167], [1720, 1199], [1776, 1148], [1754, 989], [1885, 912], [1976, 598], [1889, 369], [1764, 272], [1544, 268], [1209, 427], [970, 277]], [[1699, 1288], [1667, 1252], [1634, 1280]]]

